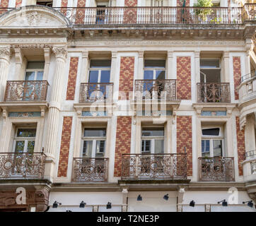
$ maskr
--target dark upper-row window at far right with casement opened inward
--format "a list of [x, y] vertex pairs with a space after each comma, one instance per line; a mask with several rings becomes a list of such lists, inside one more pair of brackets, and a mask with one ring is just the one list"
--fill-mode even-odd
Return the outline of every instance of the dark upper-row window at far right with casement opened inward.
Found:
[[200, 59], [200, 82], [221, 82], [221, 66], [219, 59]]

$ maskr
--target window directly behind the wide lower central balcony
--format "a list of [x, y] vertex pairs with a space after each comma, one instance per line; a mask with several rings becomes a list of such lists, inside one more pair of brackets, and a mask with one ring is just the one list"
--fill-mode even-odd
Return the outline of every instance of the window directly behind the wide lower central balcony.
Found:
[[141, 153], [164, 153], [164, 128], [144, 127], [141, 133]]

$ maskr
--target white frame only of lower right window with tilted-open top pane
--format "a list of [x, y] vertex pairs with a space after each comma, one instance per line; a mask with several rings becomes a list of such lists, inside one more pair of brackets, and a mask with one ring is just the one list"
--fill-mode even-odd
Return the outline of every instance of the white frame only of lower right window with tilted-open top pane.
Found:
[[[203, 129], [215, 129], [219, 128], [219, 136], [208, 136], [208, 135], [203, 135]], [[222, 126], [203, 126], [201, 129], [201, 139], [202, 141], [210, 141], [210, 157], [214, 157], [214, 141], [221, 141], [222, 145], [222, 156], [225, 157], [225, 138], [224, 138], [224, 133], [223, 133], [223, 127]], [[202, 155], [202, 147], [201, 147], [201, 155]]]

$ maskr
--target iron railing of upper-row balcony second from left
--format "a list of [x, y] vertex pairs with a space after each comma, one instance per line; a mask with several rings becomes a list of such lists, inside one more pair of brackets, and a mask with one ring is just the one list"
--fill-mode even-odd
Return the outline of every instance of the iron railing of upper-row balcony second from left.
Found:
[[81, 83], [79, 102], [112, 102], [112, 89], [113, 83]]

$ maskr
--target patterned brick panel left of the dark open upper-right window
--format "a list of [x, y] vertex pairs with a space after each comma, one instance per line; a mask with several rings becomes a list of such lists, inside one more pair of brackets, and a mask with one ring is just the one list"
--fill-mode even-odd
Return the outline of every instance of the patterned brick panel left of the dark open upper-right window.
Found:
[[191, 100], [191, 59], [177, 57], [177, 98]]

